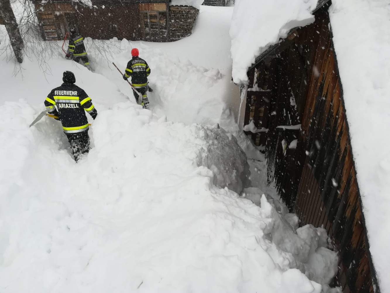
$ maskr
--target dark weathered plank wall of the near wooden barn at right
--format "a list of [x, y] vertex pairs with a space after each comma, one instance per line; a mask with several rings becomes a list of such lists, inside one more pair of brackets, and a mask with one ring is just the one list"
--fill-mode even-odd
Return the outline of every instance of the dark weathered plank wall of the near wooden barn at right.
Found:
[[268, 182], [300, 225], [328, 231], [339, 253], [333, 286], [343, 292], [380, 292], [369, 252], [332, 43], [328, 7], [322, 0], [315, 22], [293, 29], [262, 53], [248, 71], [246, 132], [267, 158]]

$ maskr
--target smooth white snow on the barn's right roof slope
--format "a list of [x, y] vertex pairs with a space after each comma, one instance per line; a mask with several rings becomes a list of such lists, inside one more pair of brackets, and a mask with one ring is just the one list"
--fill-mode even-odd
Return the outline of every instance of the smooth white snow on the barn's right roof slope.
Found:
[[330, 21], [370, 251], [379, 287], [390, 292], [389, 4], [333, 0]]

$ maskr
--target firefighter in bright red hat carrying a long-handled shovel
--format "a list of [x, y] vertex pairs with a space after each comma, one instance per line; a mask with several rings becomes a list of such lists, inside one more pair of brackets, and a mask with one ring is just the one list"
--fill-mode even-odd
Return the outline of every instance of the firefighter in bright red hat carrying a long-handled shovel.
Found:
[[[142, 107], [144, 109], [149, 109], [149, 100], [146, 93], [148, 88], [147, 77], [150, 74], [150, 68], [146, 61], [138, 57], [138, 55], [138, 49], [133, 48], [131, 50], [131, 56], [133, 56], [133, 58], [127, 63], [123, 79], [127, 80], [129, 77], [131, 77], [131, 83], [142, 95]], [[135, 91], [133, 91], [133, 94], [138, 104], [138, 94]]]

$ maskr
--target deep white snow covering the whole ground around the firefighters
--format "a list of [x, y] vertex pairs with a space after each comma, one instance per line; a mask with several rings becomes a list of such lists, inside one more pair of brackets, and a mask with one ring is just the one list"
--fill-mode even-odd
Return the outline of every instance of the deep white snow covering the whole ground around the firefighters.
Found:
[[[259, 184], [244, 191], [261, 207], [239, 197], [248, 164], [236, 139], [192, 124], [235, 132], [226, 102], [229, 13], [202, 7], [190, 38], [137, 43], [152, 68], [152, 111], [133, 102], [111, 60], [92, 50], [95, 73], [56, 57], [45, 75], [32, 57], [13, 76], [14, 62], [0, 61], [1, 292], [311, 293], [328, 284], [337, 255], [324, 230], [297, 230], [284, 205], [261, 197], [257, 187], [272, 189], [256, 170], [250, 179]], [[211, 32], [218, 18], [227, 25]], [[214, 54], [206, 43], [218, 36]], [[0, 46], [5, 38], [0, 27]], [[112, 60], [123, 69], [130, 44], [118, 44]], [[28, 128], [64, 70], [99, 112], [93, 148], [79, 164], [58, 121]]]

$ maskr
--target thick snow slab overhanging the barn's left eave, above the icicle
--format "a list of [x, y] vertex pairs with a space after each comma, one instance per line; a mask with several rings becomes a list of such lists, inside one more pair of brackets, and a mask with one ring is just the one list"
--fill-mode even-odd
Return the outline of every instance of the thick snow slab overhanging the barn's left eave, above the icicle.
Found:
[[257, 56], [289, 30], [314, 22], [317, 0], [236, 0], [230, 27], [233, 81], [247, 82]]

